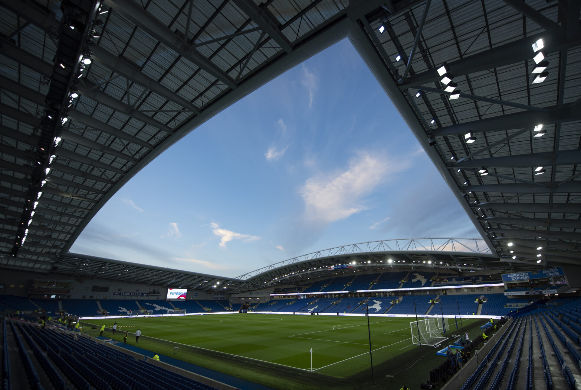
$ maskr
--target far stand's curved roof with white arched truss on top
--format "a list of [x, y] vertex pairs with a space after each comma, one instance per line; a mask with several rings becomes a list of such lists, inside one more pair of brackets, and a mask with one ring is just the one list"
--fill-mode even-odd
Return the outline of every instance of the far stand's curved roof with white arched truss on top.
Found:
[[[350, 268], [342, 268], [343, 265]], [[504, 266], [507, 263], [491, 253], [482, 239], [398, 239], [329, 248], [271, 264], [236, 279], [255, 287], [271, 287], [311, 278], [335, 277], [353, 271], [383, 272], [410, 267], [476, 271]]]

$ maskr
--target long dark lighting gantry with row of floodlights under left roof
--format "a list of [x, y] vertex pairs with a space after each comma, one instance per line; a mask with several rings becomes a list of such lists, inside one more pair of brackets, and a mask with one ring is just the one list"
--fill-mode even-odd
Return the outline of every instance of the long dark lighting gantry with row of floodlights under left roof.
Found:
[[26, 241], [28, 228], [33, 222], [34, 210], [42, 197], [46, 177], [51, 172], [50, 164], [57, 157], [55, 148], [62, 140], [59, 132], [69, 120], [68, 112], [74, 99], [78, 98], [76, 84], [83, 76], [85, 65], [91, 63], [88, 45], [92, 43], [90, 38], [94, 32], [95, 17], [101, 10], [101, 0], [64, 0], [60, 9], [63, 17], [57, 35], [55, 64], [45, 99], [46, 109], [41, 119], [40, 140], [35, 151], [30, 185], [24, 200], [15, 243], [10, 251], [12, 257], [17, 256], [20, 247]]

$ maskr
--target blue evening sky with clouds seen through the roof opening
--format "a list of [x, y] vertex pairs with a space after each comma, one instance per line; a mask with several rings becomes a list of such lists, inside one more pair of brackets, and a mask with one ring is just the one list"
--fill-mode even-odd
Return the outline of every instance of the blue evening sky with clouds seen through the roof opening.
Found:
[[411, 237], [480, 236], [345, 39], [157, 157], [71, 252], [235, 277]]

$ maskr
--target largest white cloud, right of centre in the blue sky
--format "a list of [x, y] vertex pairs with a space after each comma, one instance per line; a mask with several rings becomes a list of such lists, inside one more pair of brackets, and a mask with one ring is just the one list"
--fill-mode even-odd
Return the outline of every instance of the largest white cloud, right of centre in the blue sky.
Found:
[[366, 210], [364, 197], [404, 167], [383, 156], [360, 153], [344, 172], [307, 179], [300, 189], [306, 219], [329, 223]]

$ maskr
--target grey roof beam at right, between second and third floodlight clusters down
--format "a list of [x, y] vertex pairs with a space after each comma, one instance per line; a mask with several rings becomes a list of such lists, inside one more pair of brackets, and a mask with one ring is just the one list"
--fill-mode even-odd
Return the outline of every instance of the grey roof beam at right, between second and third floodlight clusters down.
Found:
[[527, 168], [539, 165], [573, 165], [581, 164], [581, 149], [561, 150], [555, 158], [552, 151], [544, 153], [517, 154], [515, 156], [501, 156], [480, 158], [479, 160], [464, 160], [449, 164], [449, 168]]

